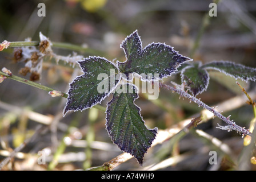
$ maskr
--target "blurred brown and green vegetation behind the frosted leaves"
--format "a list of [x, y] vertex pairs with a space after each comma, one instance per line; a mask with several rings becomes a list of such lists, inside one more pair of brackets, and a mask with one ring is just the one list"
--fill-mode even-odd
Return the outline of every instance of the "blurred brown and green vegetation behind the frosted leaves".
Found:
[[[37, 5], [41, 2], [46, 5], [45, 17], [37, 15], [39, 10]], [[190, 56], [194, 40], [199, 34], [203, 17], [210, 10], [211, 2], [208, 0], [1, 1], [0, 38], [1, 41], [9, 42], [24, 41], [28, 37], [33, 41], [39, 41], [39, 32], [42, 32], [52, 42], [70, 43], [85, 48], [83, 51], [76, 51], [78, 55], [104, 56], [108, 60], [125, 61], [120, 44], [127, 35], [138, 30], [143, 47], [151, 42], [165, 42], [182, 55]], [[199, 41], [199, 47], [191, 58], [202, 63], [230, 60], [255, 68], [256, 1], [224, 0], [219, 2], [217, 7], [217, 17], [209, 19], [209, 24]], [[63, 56], [73, 53], [70, 49], [55, 47], [53, 50]], [[24, 63], [14, 63], [13, 48], [5, 49], [0, 53], [0, 63], [1, 68], [10, 69], [14, 75], [18, 75], [19, 69], [24, 67]], [[74, 68], [69, 64], [63, 61], [57, 64], [49, 58], [43, 63], [41, 80], [37, 82], [67, 92], [73, 71]], [[243, 94], [235, 81], [226, 80], [226, 77], [221, 74], [211, 76], [209, 88], [199, 96], [201, 100], [208, 105], [215, 105]], [[165, 83], [169, 84], [170, 81], [180, 84], [179, 75], [167, 78]], [[253, 88], [254, 83], [246, 84], [248, 91]], [[167, 129], [202, 110], [195, 104], [189, 104], [189, 101], [178, 98], [175, 93], [161, 90], [158, 100], [149, 101], [145, 95], [140, 94], [136, 103], [141, 107], [143, 119], [148, 127]], [[110, 98], [101, 105], [106, 107], [108, 100]], [[0, 161], [24, 139], [31, 137], [38, 125], [42, 125], [28, 117], [27, 113], [30, 111], [53, 119], [57, 126], [57, 129], [50, 127], [27, 143], [20, 151], [21, 155], [15, 156], [3, 167], [3, 170], [46, 170], [49, 169], [53, 156], [58, 156], [58, 162], [51, 163], [51, 169], [87, 169], [100, 166], [122, 153], [107, 135], [105, 113], [101, 110], [90, 109], [71, 113], [62, 118], [65, 98], [52, 98], [43, 90], [8, 79], [0, 84], [0, 102]], [[238, 125], [246, 127], [249, 127], [254, 117], [249, 105], [225, 113], [225, 115], [229, 114]], [[202, 129], [226, 143], [232, 149], [235, 159], [238, 159], [243, 149], [241, 135], [215, 129], [218, 122], [221, 122], [218, 118], [210, 119], [199, 125], [197, 129]], [[46, 164], [43, 165], [37, 163], [37, 153], [41, 150], [48, 154]], [[165, 150], [164, 154], [159, 152], [161, 150]], [[211, 145], [192, 132], [172, 146], [166, 141], [151, 148], [145, 155], [144, 165], [155, 164], [171, 156], [186, 155], [185, 159], [167, 165], [161, 170], [207, 170], [211, 169], [208, 155], [210, 150], [213, 150]], [[229, 158], [223, 157], [215, 169], [236, 169], [234, 163]], [[115, 169], [142, 168], [135, 159], [131, 159]]]

